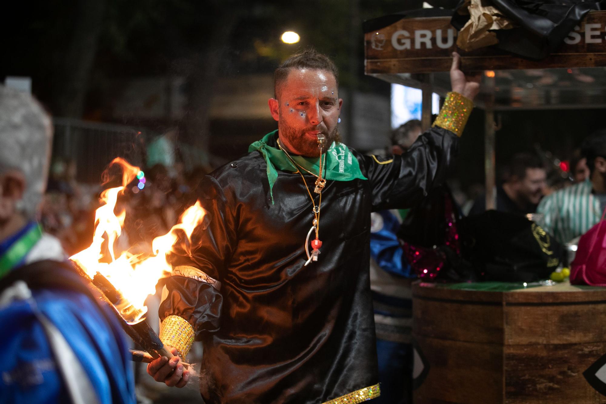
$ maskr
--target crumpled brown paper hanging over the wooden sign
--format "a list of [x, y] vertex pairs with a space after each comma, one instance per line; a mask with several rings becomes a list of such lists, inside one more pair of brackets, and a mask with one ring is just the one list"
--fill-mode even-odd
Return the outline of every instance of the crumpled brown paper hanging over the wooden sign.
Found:
[[456, 40], [458, 47], [466, 52], [498, 44], [496, 33], [490, 30], [507, 30], [514, 27], [513, 22], [490, 5], [488, 0], [467, 0], [457, 12], [470, 15]]

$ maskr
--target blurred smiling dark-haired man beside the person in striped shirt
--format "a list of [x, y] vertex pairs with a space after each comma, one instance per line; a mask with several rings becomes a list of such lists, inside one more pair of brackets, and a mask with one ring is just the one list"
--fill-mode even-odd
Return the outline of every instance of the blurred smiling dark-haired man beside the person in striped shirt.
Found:
[[[536, 207], [547, 186], [545, 168], [533, 154], [518, 153], [511, 158], [505, 172], [505, 181], [496, 189], [496, 210], [515, 215], [536, 212]], [[479, 215], [486, 210], [486, 195], [474, 202], [470, 215]]]

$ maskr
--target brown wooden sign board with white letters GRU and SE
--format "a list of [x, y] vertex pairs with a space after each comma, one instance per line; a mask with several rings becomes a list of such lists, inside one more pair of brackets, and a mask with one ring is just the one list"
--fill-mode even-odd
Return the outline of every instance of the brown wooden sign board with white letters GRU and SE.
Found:
[[530, 61], [496, 47], [459, 50], [450, 17], [401, 19], [365, 35], [366, 74], [445, 72], [450, 70], [454, 51], [461, 54], [462, 68], [468, 71], [606, 66], [605, 34], [606, 11], [590, 12], [557, 52]]

